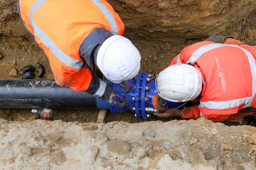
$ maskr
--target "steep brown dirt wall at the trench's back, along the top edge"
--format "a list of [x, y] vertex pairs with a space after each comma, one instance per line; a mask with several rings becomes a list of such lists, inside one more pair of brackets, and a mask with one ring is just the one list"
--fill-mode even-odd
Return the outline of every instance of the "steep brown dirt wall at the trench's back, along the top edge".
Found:
[[[0, 0], [0, 34], [28, 35], [17, 0]], [[241, 22], [255, 0], [109, 0], [125, 23], [125, 35], [171, 42], [217, 35]]]

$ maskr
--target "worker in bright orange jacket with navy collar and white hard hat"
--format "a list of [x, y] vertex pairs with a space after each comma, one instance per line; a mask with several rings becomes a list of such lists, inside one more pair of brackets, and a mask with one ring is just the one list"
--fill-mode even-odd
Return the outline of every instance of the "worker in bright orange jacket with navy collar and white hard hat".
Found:
[[111, 85], [84, 68], [85, 63], [114, 83], [139, 72], [140, 53], [121, 36], [124, 24], [106, 0], [18, 0], [17, 8], [58, 85], [108, 100], [115, 96]]

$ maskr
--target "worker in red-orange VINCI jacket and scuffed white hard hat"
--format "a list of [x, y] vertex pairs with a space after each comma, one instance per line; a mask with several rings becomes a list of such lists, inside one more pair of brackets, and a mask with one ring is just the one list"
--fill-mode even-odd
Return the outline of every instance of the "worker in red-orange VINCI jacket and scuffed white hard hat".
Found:
[[[228, 37], [184, 48], [156, 78], [158, 95], [198, 105], [167, 109], [159, 117], [239, 122], [256, 112], [256, 45]], [[192, 103], [192, 104], [191, 104]]]

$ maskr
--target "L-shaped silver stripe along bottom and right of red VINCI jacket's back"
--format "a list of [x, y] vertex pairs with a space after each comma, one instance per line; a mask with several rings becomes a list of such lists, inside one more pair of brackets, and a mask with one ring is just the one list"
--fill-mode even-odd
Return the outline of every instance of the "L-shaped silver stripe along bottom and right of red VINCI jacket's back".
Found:
[[[236, 45], [237, 46], [237, 45]], [[228, 100], [228, 101], [220, 101], [220, 102], [215, 102], [215, 101], [207, 101], [207, 102], [200, 102], [199, 108], [209, 108], [209, 109], [227, 109], [227, 108], [233, 108], [233, 107], [238, 107], [242, 104], [245, 104], [244, 108], [250, 107], [250, 105], [252, 104], [252, 101], [255, 97], [255, 93], [256, 93], [256, 87], [255, 87], [255, 82], [256, 82], [256, 64], [254, 61], [254, 58], [252, 56], [252, 54], [242, 48], [237, 46], [238, 48], [240, 48], [242, 51], [244, 51], [244, 53], [246, 54], [249, 64], [250, 64], [250, 71], [251, 71], [251, 76], [252, 76], [252, 96], [250, 97], [244, 97], [241, 99], [233, 99], [233, 100]]]

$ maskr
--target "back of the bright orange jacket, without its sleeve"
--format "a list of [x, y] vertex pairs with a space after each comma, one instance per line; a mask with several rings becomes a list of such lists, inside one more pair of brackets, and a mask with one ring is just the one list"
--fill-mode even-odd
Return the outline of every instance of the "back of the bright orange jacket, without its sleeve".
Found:
[[[37, 42], [38, 36], [47, 34], [72, 58], [78, 57], [82, 41], [93, 29], [106, 28], [119, 35], [124, 31], [119, 15], [105, 0], [20, 0], [20, 14], [32, 34], [34, 28]], [[113, 16], [110, 22], [108, 14]]]

